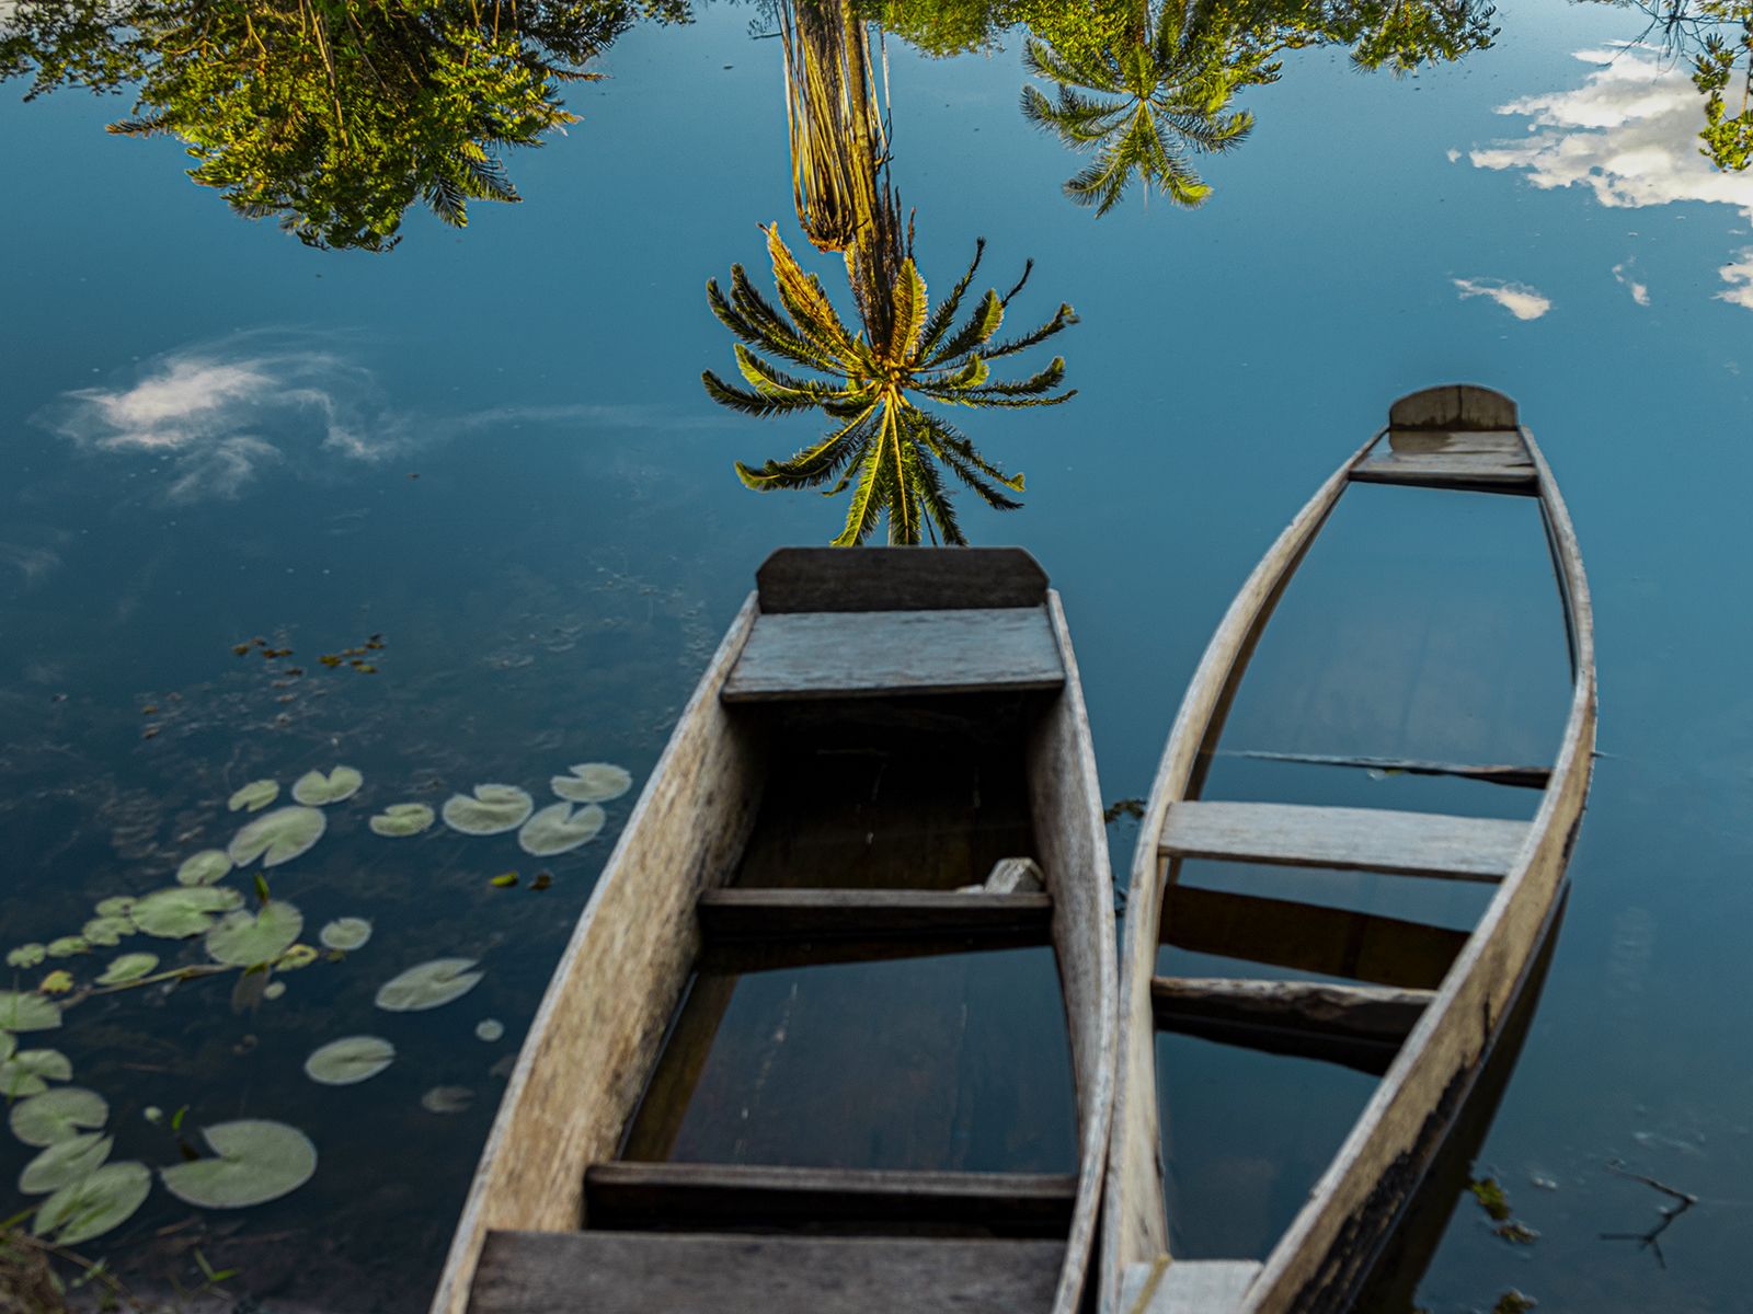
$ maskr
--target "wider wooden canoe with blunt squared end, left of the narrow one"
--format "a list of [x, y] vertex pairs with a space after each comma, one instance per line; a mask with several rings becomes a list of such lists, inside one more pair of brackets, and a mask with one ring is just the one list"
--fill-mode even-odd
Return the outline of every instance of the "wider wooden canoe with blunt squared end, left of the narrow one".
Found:
[[[859, 771], [854, 790], [845, 773]], [[554, 972], [433, 1314], [1073, 1314], [1094, 1253], [1118, 1018], [1101, 811], [1064, 613], [1033, 557], [773, 554]], [[968, 888], [1027, 871], [1018, 858], [1045, 888]], [[677, 1151], [689, 1128], [747, 1120], [738, 1102], [756, 1102], [742, 1088], [729, 1104], [701, 1093], [715, 1046], [736, 1044], [720, 1023], [745, 985], [899, 958], [887, 971], [903, 979], [975, 964], [971, 979], [1006, 960], [983, 950], [1018, 950], [1041, 971], [1048, 1006], [1020, 1020], [1010, 1039], [1022, 1044], [982, 1041], [975, 1011], [938, 1007], [943, 992], [926, 986], [899, 1004], [864, 999], [848, 1030], [878, 1039], [838, 1053], [859, 1088], [777, 1120], [766, 1141], [738, 1132], [749, 1153]], [[887, 1032], [871, 1032], [882, 1009]], [[945, 1011], [966, 1035], [924, 1035]], [[1015, 1021], [1013, 1007], [999, 1013]], [[766, 1069], [796, 1053], [787, 1016], [756, 1037]], [[931, 1055], [885, 1067], [885, 1035]], [[976, 1044], [978, 1060], [959, 1058]], [[910, 1099], [941, 1100], [945, 1063], [954, 1077], [957, 1063], [1015, 1062], [1001, 1097], [1040, 1099], [1041, 1046], [1064, 1056], [1054, 1095], [1059, 1167], [1071, 1170], [959, 1170], [954, 1155], [943, 1169], [931, 1149], [941, 1137], [926, 1135], [889, 1146], [901, 1167], [861, 1162], [859, 1144], [822, 1162], [824, 1137], [862, 1106], [901, 1107], [905, 1123]], [[1006, 1083], [992, 1077], [987, 1090]], [[775, 1099], [799, 1100], [796, 1086]], [[787, 1144], [763, 1153], [792, 1134], [813, 1135], [815, 1158]]]

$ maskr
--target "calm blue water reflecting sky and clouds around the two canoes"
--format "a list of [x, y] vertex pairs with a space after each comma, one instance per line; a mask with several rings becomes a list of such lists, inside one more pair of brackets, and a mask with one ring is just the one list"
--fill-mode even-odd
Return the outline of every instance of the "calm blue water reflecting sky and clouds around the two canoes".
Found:
[[[731, 364], [705, 280], [743, 261], [766, 282], [759, 223], [796, 238], [780, 51], [749, 39], [750, 12], [636, 28], [608, 81], [573, 88], [582, 121], [514, 158], [524, 205], [472, 207], [466, 233], [414, 215], [377, 258], [233, 217], [182, 177], [175, 144], [103, 135], [124, 102], [0, 107], [0, 941], [70, 934], [95, 899], [158, 888], [233, 832], [224, 801], [247, 780], [337, 762], [366, 778], [330, 837], [270, 876], [312, 927], [373, 918], [372, 944], [287, 974], [256, 1013], [228, 1007], [230, 983], [191, 983], [84, 1002], [53, 1034], [110, 1100], [117, 1158], [175, 1162], [147, 1106], [189, 1106], [191, 1127], [277, 1118], [319, 1142], [312, 1183], [256, 1211], [156, 1191], [103, 1242], [124, 1265], [188, 1277], [198, 1239], [273, 1309], [422, 1302], [496, 1065], [635, 795], [545, 864], [508, 836], [387, 841], [365, 818], [479, 781], [542, 792], [584, 760], [643, 783], [761, 557], [838, 529], [838, 503], [757, 498], [731, 471], [789, 454], [810, 422], [747, 420], [698, 382]], [[1697, 158], [1685, 70], [1620, 46], [1636, 12], [1511, 4], [1499, 23], [1494, 49], [1401, 81], [1294, 54], [1243, 102], [1253, 138], [1203, 165], [1204, 208], [1134, 196], [1101, 221], [1061, 198], [1075, 161], [1017, 112], [1018, 42], [931, 61], [891, 40], [894, 177], [934, 287], [983, 235], [1001, 289], [1036, 259], [1018, 322], [1061, 300], [1082, 315], [1055, 342], [1075, 401], [964, 419], [1029, 478], [1026, 510], [969, 506], [964, 526], [1029, 547], [1062, 590], [1111, 799], [1146, 792], [1234, 589], [1392, 398], [1469, 378], [1518, 399], [1590, 571], [1602, 759], [1551, 978], [1480, 1160], [1539, 1239], [1494, 1237], [1464, 1200], [1420, 1303], [1488, 1309], [1515, 1286], [1555, 1310], [1744, 1310], [1753, 298], [1732, 275], [1753, 259], [1753, 177]], [[1460, 559], [1488, 569], [1444, 585], [1453, 562], [1406, 547], [1422, 513], [1369, 515], [1334, 524], [1331, 561], [1317, 552], [1292, 597], [1315, 617], [1348, 606], [1401, 675], [1346, 669], [1287, 603], [1227, 745], [1401, 752], [1415, 696], [1373, 725], [1359, 690], [1450, 676], [1480, 697], [1420, 711], [1432, 736], [1539, 760], [1564, 671], [1541, 611], [1557, 599], [1520, 571], [1544, 569], [1529, 526], [1462, 526]], [[1502, 610], [1481, 604], [1487, 582]], [[1430, 624], [1446, 597], [1478, 627], [1406, 676], [1394, 622]], [[375, 675], [317, 666], [370, 634]], [[280, 687], [231, 653], [254, 636], [307, 675]], [[1274, 699], [1304, 689], [1301, 666], [1322, 673], [1325, 720]], [[1131, 832], [1115, 843], [1124, 857]], [[550, 888], [529, 888], [536, 867]], [[517, 888], [489, 885], [508, 869]], [[445, 1009], [372, 1009], [384, 979], [440, 955], [487, 976]], [[482, 1018], [505, 1039], [475, 1039]], [[352, 1032], [393, 1039], [396, 1063], [361, 1086], [305, 1081], [303, 1056]], [[1176, 1137], [1178, 1239], [1257, 1253], [1364, 1079], [1302, 1086], [1281, 1060], [1173, 1044], [1176, 1128], [1213, 1114], [1208, 1141]], [[426, 1111], [435, 1086], [470, 1107]], [[1238, 1088], [1246, 1100], [1224, 1097]], [[1225, 1109], [1252, 1121], [1220, 1127]], [[25, 1162], [0, 1142], [0, 1181]], [[1653, 1228], [1669, 1204], [1611, 1162], [1699, 1197], [1660, 1237], [1665, 1267], [1600, 1237]], [[23, 1205], [0, 1191], [0, 1216]]]

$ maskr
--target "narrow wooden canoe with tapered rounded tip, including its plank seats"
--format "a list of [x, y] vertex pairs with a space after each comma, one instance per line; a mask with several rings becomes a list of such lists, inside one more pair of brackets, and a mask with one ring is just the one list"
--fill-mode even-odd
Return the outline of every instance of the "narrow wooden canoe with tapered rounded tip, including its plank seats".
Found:
[[[1572, 696], [1558, 755], [1539, 776], [1544, 792], [1530, 822], [1199, 799], [1273, 606], [1341, 494], [1360, 482], [1539, 499], [1567, 620]], [[1595, 657], [1583, 562], [1551, 471], [1520, 427], [1515, 403], [1467, 385], [1395, 401], [1388, 426], [1320, 487], [1231, 603], [1157, 769], [1132, 858], [1120, 967], [1124, 1013], [1099, 1260], [1103, 1314], [1350, 1307], [1529, 976], [1581, 820], [1593, 743]], [[1283, 899], [1210, 895], [1178, 885], [1185, 858], [1494, 881], [1497, 888], [1466, 934]], [[1162, 978], [1157, 953], [1166, 943], [1359, 985]], [[1169, 1254], [1160, 1030], [1381, 1072], [1264, 1263], [1176, 1261]]]

